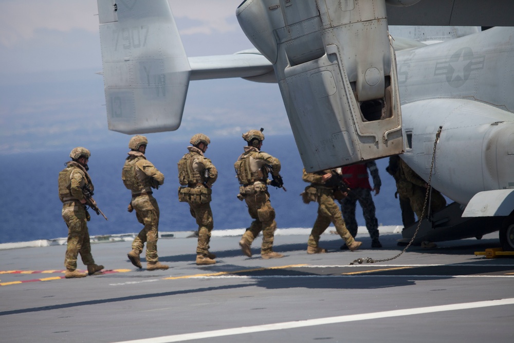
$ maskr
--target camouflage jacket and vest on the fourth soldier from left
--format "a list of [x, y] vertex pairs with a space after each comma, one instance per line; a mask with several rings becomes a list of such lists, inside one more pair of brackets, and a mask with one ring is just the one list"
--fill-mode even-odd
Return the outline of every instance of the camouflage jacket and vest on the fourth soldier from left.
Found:
[[[236, 169], [236, 177], [243, 186], [251, 185], [255, 182], [268, 182], [268, 170], [266, 166], [271, 167], [271, 174], [278, 176], [280, 173], [280, 161], [278, 158], [268, 153], [259, 151], [254, 147], [245, 147], [245, 152], [241, 154], [234, 165]], [[244, 163], [240, 163], [245, 160]]]

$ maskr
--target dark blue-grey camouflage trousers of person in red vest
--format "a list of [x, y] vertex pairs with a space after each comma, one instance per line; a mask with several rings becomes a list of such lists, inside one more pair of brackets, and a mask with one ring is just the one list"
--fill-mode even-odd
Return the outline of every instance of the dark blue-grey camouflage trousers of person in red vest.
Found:
[[344, 222], [350, 234], [355, 238], [357, 236], [357, 220], [355, 219], [355, 207], [359, 202], [362, 207], [362, 214], [364, 215], [364, 221], [366, 222], [366, 228], [370, 232], [372, 240], [378, 240], [378, 221], [375, 216], [375, 203], [371, 196], [371, 190], [366, 188], [354, 188], [348, 192], [341, 201], [341, 211], [343, 213]]

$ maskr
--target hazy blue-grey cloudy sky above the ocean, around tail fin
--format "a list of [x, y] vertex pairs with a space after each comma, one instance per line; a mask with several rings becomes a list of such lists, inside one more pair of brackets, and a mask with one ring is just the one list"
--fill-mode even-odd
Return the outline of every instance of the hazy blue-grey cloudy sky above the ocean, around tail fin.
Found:
[[[170, 0], [188, 56], [252, 48], [235, 17], [241, 0]], [[126, 145], [107, 130], [96, 0], [0, 0], [0, 154]], [[291, 134], [277, 84], [192, 81], [181, 127], [152, 141]]]

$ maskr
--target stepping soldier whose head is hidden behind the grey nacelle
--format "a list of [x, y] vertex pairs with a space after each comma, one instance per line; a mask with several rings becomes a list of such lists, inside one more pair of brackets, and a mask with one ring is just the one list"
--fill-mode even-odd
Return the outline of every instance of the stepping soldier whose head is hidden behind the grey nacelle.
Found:
[[[334, 174], [335, 169], [327, 169], [316, 173], [307, 173], [303, 169], [302, 180], [310, 182], [302, 193], [303, 202], [318, 202], [318, 217], [314, 222], [313, 229], [310, 231], [309, 240], [307, 241], [307, 254], [322, 254], [326, 249], [319, 247], [320, 236], [328, 228], [330, 223], [336, 227], [339, 236], [346, 242], [350, 250], [354, 251], [359, 248], [362, 242], [354, 240], [350, 232], [346, 229], [343, 216], [339, 207], [334, 201]], [[345, 195], [345, 194], [344, 194]]]

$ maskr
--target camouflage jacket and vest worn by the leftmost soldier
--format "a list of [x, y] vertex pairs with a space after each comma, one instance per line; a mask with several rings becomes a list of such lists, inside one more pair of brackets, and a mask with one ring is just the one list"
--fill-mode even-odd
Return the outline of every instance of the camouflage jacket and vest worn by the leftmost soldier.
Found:
[[91, 191], [95, 189], [84, 167], [75, 161], [69, 161], [66, 168], [59, 173], [59, 198], [63, 203], [70, 200], [80, 202], [84, 199], [82, 187], [85, 185], [89, 185]]

